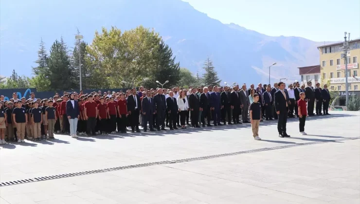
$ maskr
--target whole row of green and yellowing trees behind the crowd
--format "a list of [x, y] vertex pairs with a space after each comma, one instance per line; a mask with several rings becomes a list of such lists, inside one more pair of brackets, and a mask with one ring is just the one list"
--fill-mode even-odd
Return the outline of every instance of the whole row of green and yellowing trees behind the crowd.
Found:
[[11, 77], [0, 79], [0, 88], [36, 87], [39, 91], [78, 89], [79, 47], [83, 89], [132, 85], [156, 87], [157, 80], [180, 86], [220, 84], [209, 57], [204, 63], [202, 77], [198, 74], [194, 76], [188, 69], [180, 68], [171, 48], [158, 33], [139, 26], [125, 32], [116, 27], [110, 30], [103, 28], [102, 33], [95, 32], [91, 44], [75, 41], [72, 51], [61, 37], [55, 40], [48, 54], [41, 40], [37, 66], [32, 68], [34, 76], [18, 76], [14, 70]]

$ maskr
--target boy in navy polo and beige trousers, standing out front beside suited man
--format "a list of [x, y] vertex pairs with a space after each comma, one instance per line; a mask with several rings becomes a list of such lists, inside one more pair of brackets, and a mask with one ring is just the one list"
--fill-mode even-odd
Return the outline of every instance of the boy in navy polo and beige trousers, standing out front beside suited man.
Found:
[[261, 105], [259, 101], [259, 94], [255, 93], [253, 96], [254, 102], [250, 105], [250, 119], [252, 127], [252, 136], [255, 140], [261, 140], [259, 137], [259, 124], [261, 119]]

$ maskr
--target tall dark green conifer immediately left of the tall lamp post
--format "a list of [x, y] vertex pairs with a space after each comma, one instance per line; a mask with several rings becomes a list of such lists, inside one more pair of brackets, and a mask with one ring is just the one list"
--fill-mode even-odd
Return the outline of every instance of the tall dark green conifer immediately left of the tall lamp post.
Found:
[[48, 58], [51, 90], [69, 90], [73, 88], [70, 60], [63, 40], [55, 40]]

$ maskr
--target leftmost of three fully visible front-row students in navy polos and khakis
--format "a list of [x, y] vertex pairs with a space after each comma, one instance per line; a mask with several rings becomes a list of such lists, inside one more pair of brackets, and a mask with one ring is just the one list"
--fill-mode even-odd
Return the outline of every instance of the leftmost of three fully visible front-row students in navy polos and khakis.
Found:
[[13, 123], [17, 128], [18, 142], [25, 142], [25, 125], [28, 123], [25, 108], [22, 107], [22, 102], [17, 102], [18, 107], [13, 110]]

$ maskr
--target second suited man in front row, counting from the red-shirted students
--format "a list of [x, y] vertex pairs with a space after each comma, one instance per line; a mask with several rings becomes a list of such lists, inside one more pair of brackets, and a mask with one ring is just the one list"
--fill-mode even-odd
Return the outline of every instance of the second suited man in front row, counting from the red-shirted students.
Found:
[[146, 97], [143, 98], [142, 101], [142, 112], [144, 118], [144, 132], [147, 131], [147, 122], [149, 122], [150, 131], [155, 131], [153, 128], [153, 115], [155, 115], [155, 102], [154, 99], [151, 98], [151, 91], [147, 90]]

